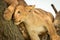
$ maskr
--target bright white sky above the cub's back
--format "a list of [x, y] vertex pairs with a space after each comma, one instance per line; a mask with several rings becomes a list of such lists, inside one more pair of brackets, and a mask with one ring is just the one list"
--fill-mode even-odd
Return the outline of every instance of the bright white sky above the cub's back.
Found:
[[55, 12], [51, 7], [54, 4], [56, 9], [60, 10], [60, 0], [25, 0], [28, 5], [35, 5], [36, 8], [41, 8], [45, 11], [51, 12], [55, 17]]

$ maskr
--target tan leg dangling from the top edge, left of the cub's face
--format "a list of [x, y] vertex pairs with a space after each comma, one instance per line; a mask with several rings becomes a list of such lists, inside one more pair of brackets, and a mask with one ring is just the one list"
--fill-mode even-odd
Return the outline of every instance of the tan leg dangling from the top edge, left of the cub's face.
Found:
[[12, 14], [14, 12], [15, 7], [18, 5], [17, 0], [4, 0], [9, 4], [9, 7], [4, 11], [4, 19], [5, 20], [11, 20]]

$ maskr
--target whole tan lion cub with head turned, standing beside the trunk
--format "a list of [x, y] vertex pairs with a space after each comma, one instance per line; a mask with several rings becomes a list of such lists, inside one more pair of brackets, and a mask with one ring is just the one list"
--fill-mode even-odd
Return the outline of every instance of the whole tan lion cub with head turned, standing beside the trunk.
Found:
[[14, 14], [14, 23], [18, 25], [21, 22], [25, 22], [31, 40], [40, 40], [38, 34], [46, 32], [47, 30], [52, 40], [60, 40], [52, 23], [51, 14], [39, 9], [38, 11], [33, 6], [30, 7], [17, 6]]

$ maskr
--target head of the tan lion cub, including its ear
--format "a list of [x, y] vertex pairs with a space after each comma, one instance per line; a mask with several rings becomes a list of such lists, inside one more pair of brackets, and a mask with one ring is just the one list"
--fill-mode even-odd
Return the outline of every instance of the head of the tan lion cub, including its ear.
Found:
[[18, 25], [20, 22], [24, 21], [24, 19], [27, 17], [30, 11], [33, 10], [33, 8], [34, 6], [17, 6], [13, 17], [14, 23]]

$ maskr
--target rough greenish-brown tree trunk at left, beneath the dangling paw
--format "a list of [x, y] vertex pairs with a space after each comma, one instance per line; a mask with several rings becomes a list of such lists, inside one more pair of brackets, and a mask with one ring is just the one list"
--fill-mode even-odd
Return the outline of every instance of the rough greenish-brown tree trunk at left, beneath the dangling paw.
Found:
[[4, 20], [3, 13], [6, 8], [7, 4], [0, 0], [0, 40], [24, 40], [13, 21]]

